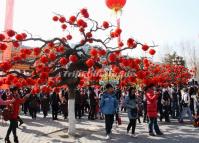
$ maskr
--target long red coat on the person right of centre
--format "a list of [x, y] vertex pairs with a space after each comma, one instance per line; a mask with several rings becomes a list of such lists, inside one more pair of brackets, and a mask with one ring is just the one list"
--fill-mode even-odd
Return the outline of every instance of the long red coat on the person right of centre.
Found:
[[158, 116], [158, 109], [157, 109], [157, 102], [158, 102], [158, 95], [154, 94], [153, 90], [148, 90], [146, 92], [146, 99], [147, 99], [147, 116], [149, 118], [154, 117], [157, 118]]

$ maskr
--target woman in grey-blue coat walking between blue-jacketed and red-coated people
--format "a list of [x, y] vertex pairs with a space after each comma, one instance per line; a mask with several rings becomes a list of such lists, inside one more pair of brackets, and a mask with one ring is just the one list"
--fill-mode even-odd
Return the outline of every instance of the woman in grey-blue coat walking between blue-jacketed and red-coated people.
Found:
[[128, 118], [129, 118], [129, 124], [127, 127], [127, 134], [129, 133], [129, 130], [132, 128], [131, 136], [135, 137], [135, 128], [136, 128], [136, 119], [138, 115], [138, 105], [136, 102], [136, 95], [135, 95], [135, 88], [131, 87], [128, 91], [128, 96], [125, 100], [125, 105], [127, 108]]

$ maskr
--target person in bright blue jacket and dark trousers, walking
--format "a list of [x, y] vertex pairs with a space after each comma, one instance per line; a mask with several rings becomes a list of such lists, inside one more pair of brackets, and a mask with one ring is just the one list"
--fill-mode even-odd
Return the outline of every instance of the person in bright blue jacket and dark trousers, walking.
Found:
[[106, 91], [103, 93], [100, 101], [100, 109], [105, 115], [106, 139], [110, 139], [110, 134], [114, 122], [114, 114], [118, 107], [118, 101], [115, 96], [114, 88], [111, 84], [105, 86]]

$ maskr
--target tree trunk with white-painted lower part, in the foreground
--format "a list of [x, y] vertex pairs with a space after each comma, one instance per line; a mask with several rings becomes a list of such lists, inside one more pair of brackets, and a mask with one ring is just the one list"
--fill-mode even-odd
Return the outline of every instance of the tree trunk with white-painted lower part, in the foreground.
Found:
[[75, 119], [75, 88], [69, 88], [69, 99], [68, 99], [68, 134], [75, 135], [76, 133], [76, 119]]

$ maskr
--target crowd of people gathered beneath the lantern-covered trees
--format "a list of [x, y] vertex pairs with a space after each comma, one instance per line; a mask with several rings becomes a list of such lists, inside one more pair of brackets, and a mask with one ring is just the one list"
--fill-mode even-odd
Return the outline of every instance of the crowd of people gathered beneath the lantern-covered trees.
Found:
[[[59, 93], [54, 91], [50, 94], [33, 95], [29, 88], [12, 87], [0, 91], [0, 106], [4, 119], [10, 121], [5, 141], [10, 143], [9, 136], [12, 132], [14, 142], [18, 143], [16, 133], [18, 122], [19, 126], [23, 124], [20, 118], [20, 107], [22, 107], [21, 112], [30, 115], [34, 120], [36, 120], [38, 112], [43, 113], [43, 118], [49, 116], [49, 112], [51, 112], [52, 120], [58, 120], [61, 115], [67, 119], [68, 92], [66, 89], [62, 89]], [[5, 111], [12, 112], [11, 116], [8, 117], [9, 115], [6, 115]], [[75, 117], [81, 119], [86, 116], [88, 120], [105, 120], [107, 139], [111, 138], [114, 119], [121, 124], [121, 112], [127, 112], [129, 124], [126, 130], [127, 134], [132, 137], [136, 136], [136, 122], [141, 123], [141, 116], [143, 122], [148, 123], [150, 136], [163, 135], [158, 126], [158, 118], [160, 122], [163, 119], [165, 122], [171, 122], [172, 118], [183, 123], [187, 113], [190, 123], [194, 123], [194, 126], [197, 127], [199, 125], [198, 85], [158, 87], [151, 84], [145, 88], [126, 87], [121, 89], [107, 84], [102, 88], [88, 87], [76, 90]]]

